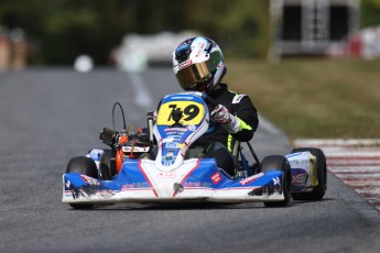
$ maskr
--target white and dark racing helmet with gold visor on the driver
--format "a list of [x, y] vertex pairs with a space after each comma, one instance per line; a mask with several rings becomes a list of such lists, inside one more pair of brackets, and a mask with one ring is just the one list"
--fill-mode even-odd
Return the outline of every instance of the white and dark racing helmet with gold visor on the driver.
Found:
[[227, 68], [218, 44], [207, 37], [191, 37], [173, 52], [173, 72], [184, 90], [210, 92]]

